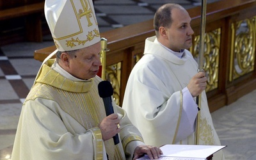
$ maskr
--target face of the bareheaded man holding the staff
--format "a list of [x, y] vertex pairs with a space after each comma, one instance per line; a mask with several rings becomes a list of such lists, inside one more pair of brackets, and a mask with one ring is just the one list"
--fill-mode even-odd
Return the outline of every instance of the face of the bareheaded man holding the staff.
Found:
[[172, 25], [166, 28], [168, 48], [179, 52], [181, 49], [188, 49], [192, 45], [193, 29], [190, 26], [191, 18], [186, 10], [173, 8]]

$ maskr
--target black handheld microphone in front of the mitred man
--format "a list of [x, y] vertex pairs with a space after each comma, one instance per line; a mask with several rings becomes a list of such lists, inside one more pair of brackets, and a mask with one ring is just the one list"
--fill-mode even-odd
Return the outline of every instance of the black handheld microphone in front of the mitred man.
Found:
[[[111, 96], [113, 95], [113, 88], [111, 83], [109, 81], [101, 81], [98, 84], [98, 90], [99, 90], [99, 95], [104, 102], [106, 115], [107, 116], [111, 115], [112, 113], [114, 113], [114, 109], [112, 106], [112, 99], [111, 99]], [[113, 136], [113, 140], [115, 145], [119, 143], [118, 134]]]

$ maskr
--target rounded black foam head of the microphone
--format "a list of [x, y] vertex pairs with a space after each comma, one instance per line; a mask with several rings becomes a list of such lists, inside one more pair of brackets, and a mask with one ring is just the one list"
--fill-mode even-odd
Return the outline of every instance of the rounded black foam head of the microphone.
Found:
[[113, 87], [109, 81], [101, 81], [98, 84], [98, 90], [101, 98], [111, 97], [114, 93]]

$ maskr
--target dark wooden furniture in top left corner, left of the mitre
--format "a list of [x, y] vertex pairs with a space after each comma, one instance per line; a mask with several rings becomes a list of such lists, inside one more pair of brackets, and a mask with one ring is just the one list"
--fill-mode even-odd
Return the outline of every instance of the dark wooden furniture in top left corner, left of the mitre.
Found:
[[42, 42], [42, 15], [44, 0], [0, 1], [0, 45], [17, 39]]

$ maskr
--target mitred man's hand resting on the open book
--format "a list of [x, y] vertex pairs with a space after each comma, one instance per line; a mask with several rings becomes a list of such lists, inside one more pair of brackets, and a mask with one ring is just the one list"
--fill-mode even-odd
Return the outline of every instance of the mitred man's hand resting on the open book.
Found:
[[134, 150], [133, 159], [138, 159], [139, 157], [147, 154], [150, 159], [159, 159], [161, 154], [163, 154], [162, 150], [158, 147], [153, 147], [150, 145], [139, 145]]

